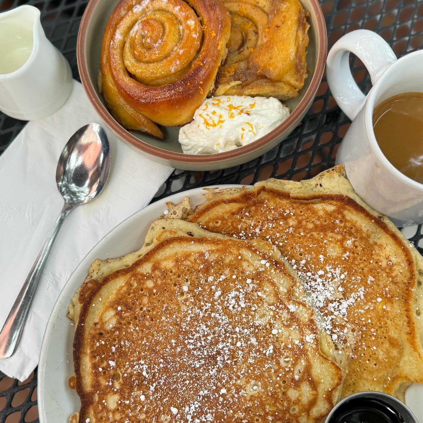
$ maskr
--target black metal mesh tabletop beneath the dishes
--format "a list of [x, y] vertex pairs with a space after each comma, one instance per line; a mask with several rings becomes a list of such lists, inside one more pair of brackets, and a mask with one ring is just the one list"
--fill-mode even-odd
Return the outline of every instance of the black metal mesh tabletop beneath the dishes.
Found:
[[[76, 59], [78, 28], [88, 0], [0, 0], [0, 12], [22, 4], [41, 11], [47, 38], [60, 49], [79, 80]], [[365, 28], [379, 33], [398, 57], [423, 47], [421, 0], [323, 0], [329, 48], [343, 34]], [[363, 63], [351, 58], [354, 79], [367, 92], [371, 82]], [[212, 172], [175, 170], [153, 201], [175, 192], [205, 185], [253, 184], [269, 177], [307, 179], [334, 165], [339, 143], [349, 127], [330, 94], [326, 79], [302, 124], [279, 146], [241, 166]], [[0, 112], [0, 154], [25, 125]], [[0, 182], [0, 183], [4, 183]], [[404, 234], [423, 253], [423, 228], [406, 228]], [[37, 376], [18, 382], [0, 372], [0, 423], [38, 422]], [[66, 416], [63, 416], [66, 421]]]

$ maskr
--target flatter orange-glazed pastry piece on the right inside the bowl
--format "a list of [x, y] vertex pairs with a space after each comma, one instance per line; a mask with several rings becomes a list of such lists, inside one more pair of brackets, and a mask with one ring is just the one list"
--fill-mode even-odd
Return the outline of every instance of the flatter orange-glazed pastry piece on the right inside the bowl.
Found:
[[231, 15], [231, 37], [216, 95], [297, 97], [307, 77], [308, 11], [298, 0], [224, 4]]

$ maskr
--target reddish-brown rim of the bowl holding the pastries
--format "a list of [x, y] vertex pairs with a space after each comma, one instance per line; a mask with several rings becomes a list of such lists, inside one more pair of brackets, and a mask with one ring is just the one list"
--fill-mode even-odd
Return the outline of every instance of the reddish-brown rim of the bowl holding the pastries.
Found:
[[168, 151], [162, 148], [151, 146], [143, 140], [135, 137], [131, 132], [127, 131], [118, 121], [113, 118], [110, 114], [107, 107], [100, 100], [99, 95], [97, 94], [93, 82], [88, 74], [87, 60], [86, 60], [86, 41], [87, 41], [87, 30], [91, 20], [91, 16], [96, 8], [96, 5], [100, 0], [90, 0], [85, 12], [81, 19], [80, 28], [78, 31], [77, 39], [77, 63], [78, 70], [81, 78], [82, 85], [87, 93], [88, 99], [91, 104], [103, 119], [104, 123], [112, 129], [112, 131], [118, 135], [121, 139], [125, 140], [135, 148], [150, 154], [151, 156], [156, 156], [161, 159], [178, 161], [182, 163], [213, 163], [213, 162], [222, 162], [225, 160], [235, 159], [236, 157], [241, 157], [247, 154], [252, 153], [253, 151], [259, 150], [264, 147], [266, 144], [271, 143], [281, 134], [286, 132], [295, 122], [302, 117], [302, 115], [308, 110], [309, 105], [313, 102], [316, 92], [319, 89], [320, 82], [323, 77], [324, 67], [326, 64], [326, 55], [327, 55], [327, 31], [326, 23], [324, 20], [323, 11], [321, 9], [319, 0], [309, 0], [310, 6], [312, 8], [312, 13], [316, 16], [317, 22], [317, 60], [316, 60], [316, 69], [314, 70], [313, 77], [310, 81], [310, 85], [307, 88], [304, 96], [300, 100], [297, 107], [294, 111], [286, 118], [280, 125], [278, 125], [271, 132], [268, 132], [258, 140], [253, 141], [250, 144], [235, 148], [231, 151], [222, 151], [220, 153], [214, 154], [184, 154], [178, 153], [176, 151]]

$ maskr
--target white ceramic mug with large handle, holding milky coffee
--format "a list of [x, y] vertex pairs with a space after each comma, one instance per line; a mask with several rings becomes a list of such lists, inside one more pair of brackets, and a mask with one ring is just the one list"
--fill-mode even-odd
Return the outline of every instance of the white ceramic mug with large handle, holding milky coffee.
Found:
[[[371, 76], [373, 87], [367, 96], [352, 77], [350, 52], [360, 58]], [[330, 49], [326, 74], [332, 95], [352, 120], [339, 147], [336, 164], [345, 164], [347, 178], [357, 194], [396, 225], [422, 223], [423, 184], [402, 174], [383, 155], [373, 132], [373, 111], [376, 104], [391, 96], [423, 91], [423, 50], [397, 60], [379, 35], [356, 30], [340, 38]]]

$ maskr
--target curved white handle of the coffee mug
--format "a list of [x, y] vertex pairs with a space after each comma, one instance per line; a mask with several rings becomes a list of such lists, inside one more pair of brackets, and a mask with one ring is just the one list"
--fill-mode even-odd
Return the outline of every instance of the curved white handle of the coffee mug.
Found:
[[373, 85], [397, 58], [381, 36], [365, 29], [344, 35], [330, 49], [326, 66], [327, 83], [339, 107], [353, 120], [365, 102], [365, 95], [352, 77], [350, 52], [364, 63]]

